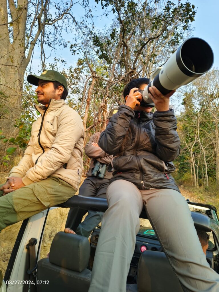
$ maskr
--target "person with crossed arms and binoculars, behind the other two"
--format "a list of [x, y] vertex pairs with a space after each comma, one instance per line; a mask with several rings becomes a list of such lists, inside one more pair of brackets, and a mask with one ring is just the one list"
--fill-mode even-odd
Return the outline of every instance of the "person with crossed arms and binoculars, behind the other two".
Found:
[[[117, 109], [112, 109], [107, 117], [107, 123], [112, 118]], [[108, 155], [98, 145], [100, 132], [94, 133], [84, 148], [85, 154], [91, 158], [91, 164], [86, 174], [86, 179], [79, 188], [79, 195], [85, 197], [106, 198], [106, 190], [109, 185], [109, 179], [112, 172], [107, 171], [107, 165], [112, 160], [112, 155]], [[80, 208], [70, 208], [65, 223], [65, 232], [89, 237], [91, 231], [101, 222], [103, 212], [88, 210], [88, 215], [81, 222], [87, 210]], [[74, 230], [74, 231], [73, 231]]]

